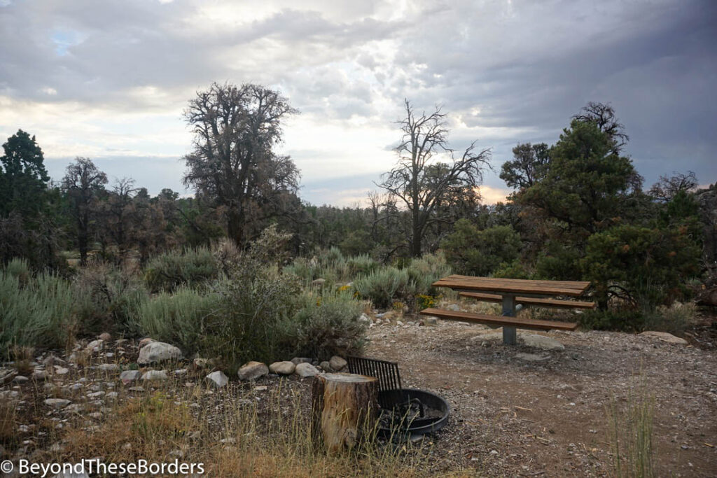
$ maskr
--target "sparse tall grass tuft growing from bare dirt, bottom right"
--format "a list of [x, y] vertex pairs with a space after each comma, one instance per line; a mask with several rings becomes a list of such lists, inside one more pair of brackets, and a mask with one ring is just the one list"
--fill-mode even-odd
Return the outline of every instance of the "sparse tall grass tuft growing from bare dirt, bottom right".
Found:
[[655, 397], [647, 391], [645, 378], [631, 388], [625, 408], [613, 397], [607, 408], [613, 472], [617, 478], [654, 477], [652, 466], [652, 421]]

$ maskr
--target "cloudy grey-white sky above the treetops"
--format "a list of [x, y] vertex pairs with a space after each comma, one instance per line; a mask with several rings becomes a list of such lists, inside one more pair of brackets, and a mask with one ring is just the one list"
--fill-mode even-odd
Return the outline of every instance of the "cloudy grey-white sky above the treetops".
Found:
[[[452, 145], [478, 140], [496, 169], [609, 102], [647, 186], [717, 181], [716, 1], [0, 0], [0, 138], [36, 135], [53, 178], [88, 156], [151, 193], [191, 193], [182, 110], [213, 81], [268, 85], [300, 110], [282, 149], [313, 204], [376, 189], [404, 97], [443, 105]], [[486, 173], [486, 201], [507, 192]]]

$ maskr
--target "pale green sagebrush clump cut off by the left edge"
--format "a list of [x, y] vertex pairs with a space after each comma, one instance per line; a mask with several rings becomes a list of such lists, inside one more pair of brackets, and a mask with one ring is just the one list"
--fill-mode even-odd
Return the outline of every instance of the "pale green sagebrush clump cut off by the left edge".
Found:
[[[14, 272], [18, 269], [14, 266]], [[0, 270], [0, 355], [11, 345], [61, 348], [77, 331], [77, 307], [82, 298], [70, 282], [49, 272], [22, 282]]]

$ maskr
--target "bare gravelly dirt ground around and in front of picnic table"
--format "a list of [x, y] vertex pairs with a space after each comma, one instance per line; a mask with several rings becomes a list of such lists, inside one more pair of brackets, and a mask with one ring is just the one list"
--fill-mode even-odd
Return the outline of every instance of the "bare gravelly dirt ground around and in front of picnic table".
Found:
[[654, 396], [656, 476], [717, 476], [714, 317], [685, 335], [690, 345], [626, 333], [536, 333], [564, 350], [523, 345], [522, 331], [511, 346], [483, 340], [481, 325], [401, 320], [371, 326], [366, 356], [398, 362], [404, 388], [450, 403], [450, 423], [433, 438], [434, 472], [460, 464], [488, 476], [611, 474], [609, 404]]

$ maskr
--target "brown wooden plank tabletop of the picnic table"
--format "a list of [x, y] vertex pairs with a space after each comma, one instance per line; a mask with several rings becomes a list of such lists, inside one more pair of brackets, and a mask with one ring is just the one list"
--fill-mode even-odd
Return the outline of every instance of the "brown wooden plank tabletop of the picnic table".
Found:
[[453, 274], [433, 283], [434, 287], [450, 287], [462, 291], [487, 291], [525, 294], [579, 297], [590, 285], [590, 282], [564, 280], [526, 280], [500, 279], [498, 277], [473, 277], [470, 275]]

